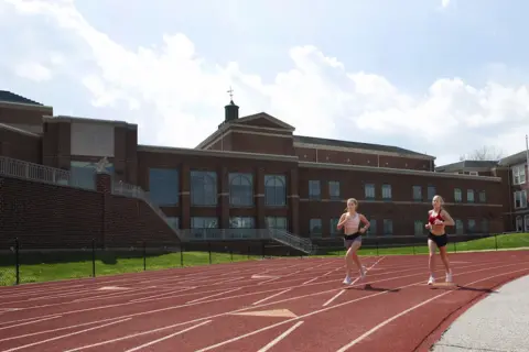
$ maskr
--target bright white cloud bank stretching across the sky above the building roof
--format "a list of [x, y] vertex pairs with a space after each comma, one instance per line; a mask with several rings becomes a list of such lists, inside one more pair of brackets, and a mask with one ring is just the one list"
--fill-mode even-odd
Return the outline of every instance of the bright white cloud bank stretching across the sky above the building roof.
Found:
[[[292, 47], [291, 68], [266, 81], [236, 62], [209, 62], [183, 33], [161, 35], [158, 46], [130, 48], [91, 25], [73, 1], [6, 3], [0, 12], [24, 20], [31, 33], [45, 33], [25, 36], [11, 63], [45, 53], [54, 74], [86, 95], [79, 114], [91, 105], [93, 118], [139, 123], [142, 143], [195, 146], [222, 121], [233, 86], [241, 114], [267, 111], [298, 134], [396, 144], [441, 156], [439, 163], [483, 145], [507, 153], [525, 146], [527, 85], [473, 87], [447, 77], [409, 92], [375, 73], [348, 72], [312, 45]], [[56, 95], [68, 99], [75, 90], [64, 87]], [[61, 110], [61, 101], [54, 106]]]

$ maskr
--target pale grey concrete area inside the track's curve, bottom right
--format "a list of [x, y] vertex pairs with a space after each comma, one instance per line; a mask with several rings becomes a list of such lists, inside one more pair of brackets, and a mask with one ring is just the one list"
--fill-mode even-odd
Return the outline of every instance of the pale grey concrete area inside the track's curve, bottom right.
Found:
[[529, 352], [529, 275], [471, 307], [431, 351]]

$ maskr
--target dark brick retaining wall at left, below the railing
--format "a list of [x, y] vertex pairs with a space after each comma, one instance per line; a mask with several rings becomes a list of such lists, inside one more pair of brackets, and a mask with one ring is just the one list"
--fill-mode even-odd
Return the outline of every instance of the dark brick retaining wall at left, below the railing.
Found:
[[[105, 229], [105, 231], [104, 231]], [[0, 248], [21, 249], [174, 245], [169, 226], [142, 200], [110, 194], [0, 178]]]

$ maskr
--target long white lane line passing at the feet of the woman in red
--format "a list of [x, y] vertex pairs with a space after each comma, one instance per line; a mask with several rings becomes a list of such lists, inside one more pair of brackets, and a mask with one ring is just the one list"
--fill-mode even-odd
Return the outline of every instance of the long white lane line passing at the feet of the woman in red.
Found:
[[[519, 265], [519, 263], [517, 264], [507, 264], [507, 265], [500, 265], [500, 266], [496, 266], [495, 268], [501, 268], [501, 267], [505, 267], [505, 266], [514, 266], [514, 265]], [[527, 271], [529, 268], [525, 268], [525, 271]], [[473, 274], [473, 273], [477, 273], [477, 272], [483, 272], [483, 271], [490, 271], [490, 267], [486, 267], [486, 268], [483, 268], [483, 270], [477, 270], [477, 271], [469, 271], [469, 272], [463, 272], [463, 273], [457, 273], [455, 274], [454, 276], [460, 276], [460, 275], [464, 275], [464, 274]], [[505, 273], [504, 273], [505, 275]], [[397, 277], [399, 278], [399, 277]], [[418, 286], [418, 285], [421, 285], [423, 284], [424, 280], [420, 280], [418, 283], [413, 283], [413, 284], [409, 284], [409, 285], [404, 285], [404, 286], [400, 286], [400, 287], [397, 287], [397, 289], [402, 289], [402, 288], [407, 288], [407, 287], [412, 287], [412, 286]], [[248, 337], [251, 337], [251, 336], [255, 336], [257, 333], [261, 333], [263, 331], [268, 331], [270, 329], [273, 329], [273, 328], [277, 328], [277, 327], [280, 327], [282, 324], [285, 324], [285, 323], [289, 323], [289, 322], [292, 322], [292, 321], [295, 321], [295, 320], [300, 320], [300, 319], [304, 319], [304, 318], [307, 318], [307, 317], [312, 317], [312, 316], [315, 316], [315, 315], [319, 315], [321, 312], [324, 312], [324, 311], [328, 311], [328, 310], [332, 310], [332, 309], [336, 309], [336, 308], [339, 308], [339, 307], [343, 307], [343, 306], [346, 306], [346, 305], [350, 305], [350, 304], [354, 304], [354, 302], [357, 302], [357, 301], [360, 301], [360, 300], [365, 300], [365, 299], [368, 299], [368, 298], [373, 298], [373, 297], [377, 297], [377, 296], [381, 296], [381, 295], [387, 295], [389, 292], [385, 290], [385, 292], [380, 292], [380, 293], [376, 293], [376, 294], [373, 294], [373, 295], [367, 295], [367, 296], [363, 296], [363, 297], [359, 297], [359, 298], [356, 298], [356, 299], [352, 299], [352, 300], [347, 300], [345, 302], [341, 302], [341, 304], [337, 304], [337, 305], [334, 305], [334, 306], [331, 306], [331, 307], [326, 307], [326, 308], [322, 308], [322, 309], [319, 309], [319, 310], [314, 310], [314, 311], [311, 311], [309, 314], [305, 314], [305, 315], [302, 315], [302, 316], [299, 316], [296, 318], [291, 318], [291, 319], [287, 319], [287, 320], [283, 320], [283, 321], [280, 321], [280, 322], [277, 322], [277, 323], [272, 323], [268, 327], [264, 327], [264, 328], [261, 328], [261, 329], [258, 329], [258, 330], [253, 330], [251, 332], [248, 332], [248, 333], [245, 333], [245, 334], [241, 334], [241, 336], [238, 336], [238, 337], [235, 337], [235, 338], [231, 338], [231, 339], [228, 339], [228, 340], [225, 340], [223, 342], [218, 342], [216, 344], [212, 344], [207, 348], [204, 348], [204, 349], [201, 349], [201, 350], [197, 350], [195, 352], [205, 352], [205, 351], [209, 351], [209, 350], [214, 350], [214, 349], [217, 349], [219, 346], [223, 346], [223, 345], [226, 345], [226, 344], [229, 344], [231, 342], [236, 342], [236, 341], [239, 341], [239, 340], [242, 340], [245, 338], [248, 338]], [[245, 308], [245, 309], [248, 309], [248, 308]]]

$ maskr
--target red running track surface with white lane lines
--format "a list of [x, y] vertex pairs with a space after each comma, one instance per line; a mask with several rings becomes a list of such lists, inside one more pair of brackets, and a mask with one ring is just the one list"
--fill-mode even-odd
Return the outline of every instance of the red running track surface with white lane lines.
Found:
[[343, 258], [279, 258], [3, 287], [0, 351], [428, 351], [529, 274], [529, 251], [450, 260], [456, 286], [410, 255], [364, 257], [350, 286]]

